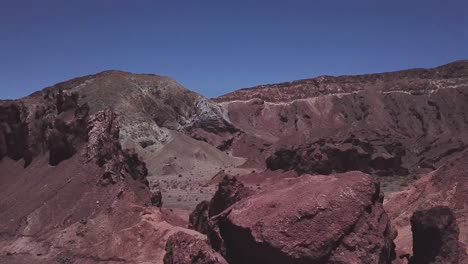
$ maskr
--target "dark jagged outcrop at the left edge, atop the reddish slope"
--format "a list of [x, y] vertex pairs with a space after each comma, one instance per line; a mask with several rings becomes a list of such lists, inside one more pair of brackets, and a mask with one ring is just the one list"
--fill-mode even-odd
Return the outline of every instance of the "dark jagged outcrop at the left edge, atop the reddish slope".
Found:
[[48, 152], [49, 165], [58, 165], [86, 141], [88, 112], [86, 104], [78, 105], [76, 93], [61, 90], [32, 102], [0, 102], [0, 158], [23, 159], [27, 167]]

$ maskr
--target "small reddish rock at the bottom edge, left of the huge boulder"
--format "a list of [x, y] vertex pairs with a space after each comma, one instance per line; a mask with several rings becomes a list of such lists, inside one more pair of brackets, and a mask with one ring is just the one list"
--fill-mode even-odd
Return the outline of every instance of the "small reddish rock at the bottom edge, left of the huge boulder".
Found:
[[164, 264], [227, 264], [206, 241], [184, 232], [177, 232], [166, 243]]

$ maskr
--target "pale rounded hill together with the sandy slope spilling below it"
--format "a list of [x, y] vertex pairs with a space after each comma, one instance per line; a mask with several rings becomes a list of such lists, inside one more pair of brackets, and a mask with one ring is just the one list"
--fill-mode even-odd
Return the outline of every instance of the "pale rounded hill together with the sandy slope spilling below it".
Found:
[[[58, 92], [63, 95], [52, 98]], [[65, 101], [68, 95], [78, 104], [89, 105], [91, 114], [104, 109], [117, 113], [122, 147], [135, 150], [143, 158], [148, 164], [150, 186], [161, 189], [172, 205], [194, 207], [197, 200], [212, 192], [204, 187], [211, 177], [244, 162], [184, 135], [193, 127], [203, 130], [206, 125], [222, 130], [230, 125], [220, 107], [171, 78], [105, 71], [58, 83], [19, 101], [35, 106], [50, 97], [61, 111], [61, 107], [72, 103], [70, 99]], [[189, 184], [193, 186], [191, 194], [185, 190]]]

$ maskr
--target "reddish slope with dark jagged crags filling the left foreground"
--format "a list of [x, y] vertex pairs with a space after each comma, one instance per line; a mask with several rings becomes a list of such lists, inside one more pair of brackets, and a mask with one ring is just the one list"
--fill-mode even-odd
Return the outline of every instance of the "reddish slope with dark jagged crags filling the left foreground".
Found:
[[[146, 166], [121, 148], [115, 113], [88, 116], [64, 94], [59, 111], [48, 96], [0, 108], [0, 263], [162, 263], [166, 239], [193, 231], [149, 206]], [[26, 168], [11, 159], [25, 153]]]

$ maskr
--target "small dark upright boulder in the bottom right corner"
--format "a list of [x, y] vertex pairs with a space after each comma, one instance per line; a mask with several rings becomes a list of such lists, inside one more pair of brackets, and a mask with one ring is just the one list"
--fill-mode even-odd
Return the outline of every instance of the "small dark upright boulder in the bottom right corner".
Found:
[[458, 241], [458, 225], [446, 206], [416, 211], [411, 217], [413, 256], [410, 264], [465, 263], [465, 248]]

